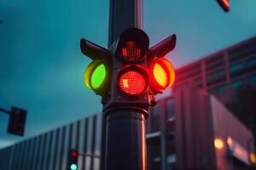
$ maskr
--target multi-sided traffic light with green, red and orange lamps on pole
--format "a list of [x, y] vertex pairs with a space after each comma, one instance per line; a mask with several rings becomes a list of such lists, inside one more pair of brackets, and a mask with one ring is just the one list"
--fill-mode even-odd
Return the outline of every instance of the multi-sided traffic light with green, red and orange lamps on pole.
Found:
[[80, 43], [82, 53], [93, 60], [84, 73], [85, 86], [102, 96], [105, 108], [129, 104], [146, 109], [155, 94], [174, 82], [174, 68], [164, 57], [175, 48], [175, 35], [152, 48], [148, 35], [137, 28], [123, 31], [109, 49], [85, 39]]

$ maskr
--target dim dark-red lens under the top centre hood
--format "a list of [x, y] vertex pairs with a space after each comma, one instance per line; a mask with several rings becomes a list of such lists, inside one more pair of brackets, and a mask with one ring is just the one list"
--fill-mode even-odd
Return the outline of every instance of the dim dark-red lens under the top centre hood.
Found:
[[125, 61], [137, 61], [143, 57], [141, 54], [142, 50], [137, 48], [133, 41], [126, 42], [126, 47], [122, 48], [122, 56]]

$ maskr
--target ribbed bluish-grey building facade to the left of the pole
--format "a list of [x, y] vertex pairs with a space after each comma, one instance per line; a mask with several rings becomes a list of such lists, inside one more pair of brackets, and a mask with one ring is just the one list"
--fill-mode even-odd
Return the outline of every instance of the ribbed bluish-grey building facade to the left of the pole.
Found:
[[[90, 116], [0, 150], [0, 169], [67, 169], [70, 148], [100, 156], [101, 137], [102, 114]], [[79, 156], [79, 169], [99, 168], [99, 158]]]

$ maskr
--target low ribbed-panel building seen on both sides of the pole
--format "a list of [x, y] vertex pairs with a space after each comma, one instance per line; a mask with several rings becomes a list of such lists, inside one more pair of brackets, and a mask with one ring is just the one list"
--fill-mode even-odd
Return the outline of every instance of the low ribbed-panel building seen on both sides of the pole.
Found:
[[[101, 137], [102, 114], [97, 114], [0, 150], [0, 169], [64, 170], [73, 148], [92, 155], [79, 156], [79, 169], [99, 170]], [[193, 88], [160, 99], [151, 109], [147, 144], [148, 170], [249, 169], [255, 154], [247, 127], [218, 99]]]

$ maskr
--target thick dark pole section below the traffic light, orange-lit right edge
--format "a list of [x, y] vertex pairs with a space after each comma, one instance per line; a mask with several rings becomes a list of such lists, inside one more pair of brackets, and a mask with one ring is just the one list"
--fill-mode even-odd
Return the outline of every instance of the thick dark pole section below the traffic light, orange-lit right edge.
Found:
[[121, 108], [106, 112], [106, 170], [146, 170], [145, 122], [148, 111]]

